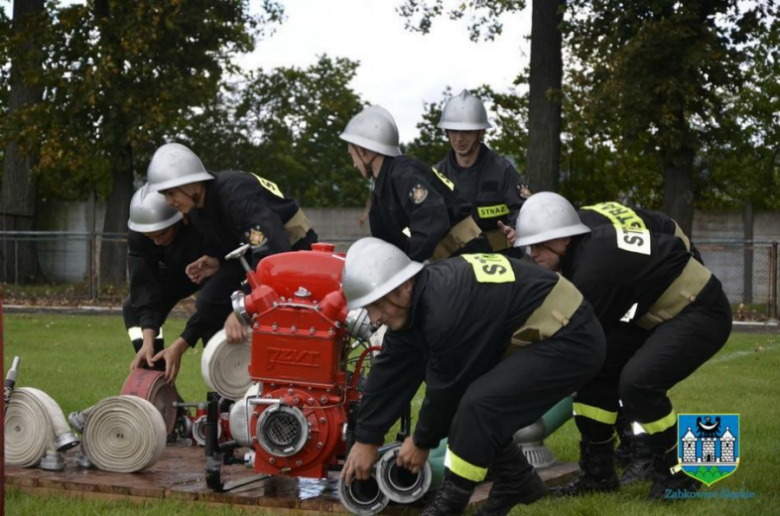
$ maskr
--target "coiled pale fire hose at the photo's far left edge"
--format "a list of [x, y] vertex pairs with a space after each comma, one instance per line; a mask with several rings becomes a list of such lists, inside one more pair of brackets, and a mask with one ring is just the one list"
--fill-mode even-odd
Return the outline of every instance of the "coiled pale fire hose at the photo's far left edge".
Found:
[[62, 469], [58, 452], [79, 444], [62, 409], [48, 394], [33, 387], [14, 390], [5, 414], [5, 463]]

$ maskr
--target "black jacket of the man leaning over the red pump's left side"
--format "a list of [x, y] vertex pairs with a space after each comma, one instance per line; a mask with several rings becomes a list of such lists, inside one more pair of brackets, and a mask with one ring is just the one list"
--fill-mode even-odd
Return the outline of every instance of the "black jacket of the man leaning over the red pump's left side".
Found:
[[266, 256], [291, 250], [284, 224], [299, 209], [295, 199], [284, 197], [273, 183], [263, 186], [253, 174], [226, 171], [214, 176], [203, 183], [203, 208], [189, 214], [206, 241], [206, 254], [223, 261], [249, 243], [252, 254], [247, 261], [254, 268]]

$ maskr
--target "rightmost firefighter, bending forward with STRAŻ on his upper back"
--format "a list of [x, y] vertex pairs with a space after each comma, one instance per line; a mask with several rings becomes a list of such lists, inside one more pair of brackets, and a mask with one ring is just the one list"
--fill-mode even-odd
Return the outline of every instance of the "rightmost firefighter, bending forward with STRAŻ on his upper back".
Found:
[[731, 308], [720, 281], [694, 257], [687, 239], [669, 228], [653, 231], [655, 222], [616, 203], [581, 213], [592, 220], [594, 211], [611, 224], [588, 227], [563, 197], [533, 195], [520, 211], [515, 240], [531, 246], [538, 264], [580, 289], [608, 335], [621, 320], [646, 332], [636, 350], [609, 347], [602, 372], [577, 392], [582, 474], [561, 494], [618, 489], [612, 452], [619, 401], [642, 426], [653, 452], [650, 497], [662, 499], [666, 489], [696, 490], [697, 480], [672, 471], [678, 463], [677, 418], [667, 392], [723, 347]]

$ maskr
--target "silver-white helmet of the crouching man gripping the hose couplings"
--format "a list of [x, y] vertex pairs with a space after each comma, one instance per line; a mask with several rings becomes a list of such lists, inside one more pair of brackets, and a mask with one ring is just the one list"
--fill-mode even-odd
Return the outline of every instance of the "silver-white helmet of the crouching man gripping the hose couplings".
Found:
[[393, 244], [361, 238], [349, 248], [341, 275], [347, 309], [373, 303], [420, 272], [423, 265], [409, 259]]

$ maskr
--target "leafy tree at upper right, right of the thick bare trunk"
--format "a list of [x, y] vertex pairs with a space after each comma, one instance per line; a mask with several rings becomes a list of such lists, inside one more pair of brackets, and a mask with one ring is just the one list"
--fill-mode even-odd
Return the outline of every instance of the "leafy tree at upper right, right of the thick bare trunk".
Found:
[[566, 33], [579, 60], [572, 79], [588, 90], [590, 123], [615, 124], [621, 148], [657, 160], [663, 210], [690, 231], [699, 152], [725, 142], [727, 99], [745, 83], [757, 24], [770, 2], [574, 0]]

